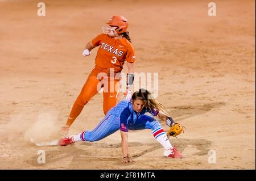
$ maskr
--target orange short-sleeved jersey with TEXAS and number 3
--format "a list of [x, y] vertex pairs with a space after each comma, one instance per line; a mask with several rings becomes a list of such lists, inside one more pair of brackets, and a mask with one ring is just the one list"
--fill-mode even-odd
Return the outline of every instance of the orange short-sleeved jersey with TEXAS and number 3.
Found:
[[125, 61], [129, 63], [135, 61], [133, 45], [125, 37], [114, 39], [102, 33], [92, 40], [92, 44], [100, 46], [95, 58], [95, 65], [101, 68], [114, 68], [115, 72], [120, 72]]

